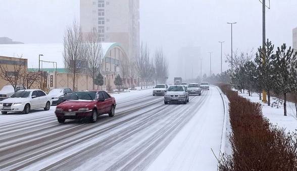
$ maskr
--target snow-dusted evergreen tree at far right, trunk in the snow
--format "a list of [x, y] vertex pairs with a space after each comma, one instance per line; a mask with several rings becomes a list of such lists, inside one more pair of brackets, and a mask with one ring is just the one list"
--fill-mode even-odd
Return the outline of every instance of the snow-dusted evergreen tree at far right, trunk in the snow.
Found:
[[275, 87], [274, 92], [278, 95], [283, 95], [284, 98], [284, 115], [287, 115], [286, 111], [286, 96], [287, 93], [291, 92], [294, 89], [293, 75], [291, 74], [291, 67], [296, 59], [297, 53], [293, 54], [291, 47], [286, 50], [286, 45], [283, 44], [280, 48], [277, 48], [276, 51], [276, 60], [274, 63], [275, 71]]

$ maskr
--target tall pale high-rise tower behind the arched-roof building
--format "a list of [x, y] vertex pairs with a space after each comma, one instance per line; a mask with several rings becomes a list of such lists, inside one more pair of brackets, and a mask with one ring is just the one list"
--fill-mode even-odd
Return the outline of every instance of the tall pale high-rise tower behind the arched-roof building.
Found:
[[80, 0], [83, 33], [97, 29], [103, 42], [118, 42], [128, 56], [139, 48], [139, 0]]

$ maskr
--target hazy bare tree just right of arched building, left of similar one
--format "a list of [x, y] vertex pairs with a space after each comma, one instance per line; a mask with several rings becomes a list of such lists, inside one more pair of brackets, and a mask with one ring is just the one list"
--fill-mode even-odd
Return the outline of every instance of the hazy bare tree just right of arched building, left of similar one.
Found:
[[142, 89], [142, 83], [143, 81], [147, 81], [147, 72], [149, 72], [150, 69], [150, 51], [146, 44], [143, 45], [143, 42], [141, 42], [139, 54], [135, 57], [135, 67], [137, 74], [141, 79]]

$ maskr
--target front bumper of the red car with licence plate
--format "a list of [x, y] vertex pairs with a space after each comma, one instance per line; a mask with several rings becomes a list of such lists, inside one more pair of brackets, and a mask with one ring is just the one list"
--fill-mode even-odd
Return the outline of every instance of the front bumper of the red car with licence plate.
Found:
[[92, 110], [89, 111], [75, 111], [75, 112], [64, 112], [64, 111], [55, 111], [56, 116], [62, 119], [82, 119], [85, 117], [92, 116]]

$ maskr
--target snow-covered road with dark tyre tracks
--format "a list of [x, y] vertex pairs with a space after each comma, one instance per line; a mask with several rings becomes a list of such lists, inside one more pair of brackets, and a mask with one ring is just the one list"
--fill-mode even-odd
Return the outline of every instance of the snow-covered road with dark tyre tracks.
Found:
[[59, 124], [50, 111], [0, 115], [0, 169], [215, 170], [224, 107], [216, 88], [187, 105], [152, 90], [113, 95], [116, 115]]

